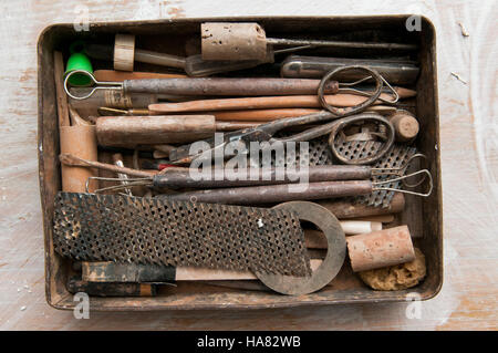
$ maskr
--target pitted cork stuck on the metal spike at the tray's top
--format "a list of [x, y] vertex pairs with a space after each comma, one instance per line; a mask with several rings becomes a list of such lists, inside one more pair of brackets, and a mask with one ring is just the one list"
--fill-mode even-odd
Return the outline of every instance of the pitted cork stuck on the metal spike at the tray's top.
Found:
[[258, 23], [203, 23], [200, 38], [204, 60], [267, 60], [267, 37]]

